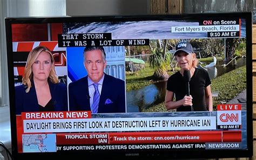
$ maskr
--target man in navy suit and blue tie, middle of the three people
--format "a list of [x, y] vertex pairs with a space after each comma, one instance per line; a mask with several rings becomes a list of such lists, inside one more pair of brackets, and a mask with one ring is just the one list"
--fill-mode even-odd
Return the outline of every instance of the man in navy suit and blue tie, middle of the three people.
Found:
[[69, 110], [92, 113], [125, 113], [125, 82], [104, 73], [103, 47], [84, 49], [87, 76], [69, 85]]

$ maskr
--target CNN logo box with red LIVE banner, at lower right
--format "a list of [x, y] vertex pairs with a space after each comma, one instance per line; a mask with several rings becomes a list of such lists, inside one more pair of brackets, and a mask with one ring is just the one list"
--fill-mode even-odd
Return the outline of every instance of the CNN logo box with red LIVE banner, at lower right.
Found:
[[241, 104], [218, 105], [217, 125], [241, 125], [241, 108]]

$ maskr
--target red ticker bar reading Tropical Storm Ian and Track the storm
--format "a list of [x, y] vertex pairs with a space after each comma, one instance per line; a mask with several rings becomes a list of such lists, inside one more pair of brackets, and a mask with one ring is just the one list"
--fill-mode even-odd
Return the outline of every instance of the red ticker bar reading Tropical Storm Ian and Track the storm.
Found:
[[241, 142], [241, 131], [152, 131], [137, 133], [56, 134], [57, 145]]

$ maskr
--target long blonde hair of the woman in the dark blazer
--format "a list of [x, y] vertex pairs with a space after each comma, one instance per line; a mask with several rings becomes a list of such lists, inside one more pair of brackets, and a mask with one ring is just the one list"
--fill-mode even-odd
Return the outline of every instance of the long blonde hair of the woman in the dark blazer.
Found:
[[59, 83], [58, 76], [56, 75], [56, 72], [55, 72], [54, 58], [53, 58], [53, 56], [51, 54], [51, 51], [47, 47], [37, 46], [37, 47], [33, 48], [32, 51], [30, 51], [28, 59], [26, 60], [24, 77], [22, 78], [23, 85], [28, 87], [28, 88], [26, 88], [26, 93], [28, 93], [30, 91], [30, 88], [32, 86], [31, 85], [31, 81], [33, 81], [32, 65], [34, 64], [34, 62], [36, 61], [38, 55], [41, 52], [49, 53], [50, 58], [51, 58], [52, 68], [51, 68], [48, 80], [50, 82], [52, 82], [53, 84], [58, 84]]

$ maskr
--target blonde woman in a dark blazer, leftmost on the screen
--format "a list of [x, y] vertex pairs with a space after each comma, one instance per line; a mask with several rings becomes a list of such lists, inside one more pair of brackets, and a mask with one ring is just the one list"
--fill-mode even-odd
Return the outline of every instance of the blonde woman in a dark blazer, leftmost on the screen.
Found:
[[23, 85], [15, 87], [16, 114], [68, 110], [66, 85], [59, 82], [51, 51], [34, 48], [26, 62]]

